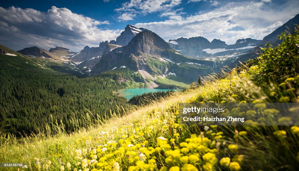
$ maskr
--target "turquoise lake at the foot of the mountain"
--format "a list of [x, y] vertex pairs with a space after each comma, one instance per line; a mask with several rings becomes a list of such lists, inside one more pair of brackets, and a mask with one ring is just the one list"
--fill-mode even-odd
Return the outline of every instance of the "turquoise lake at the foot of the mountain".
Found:
[[[170, 89], [177, 91], [177, 89]], [[148, 92], [158, 92], [158, 91], [168, 91], [168, 89], [155, 89], [155, 88], [130, 88], [130, 89], [123, 89], [119, 91], [119, 94], [128, 100], [131, 99], [134, 95], [141, 95], [143, 93]]]

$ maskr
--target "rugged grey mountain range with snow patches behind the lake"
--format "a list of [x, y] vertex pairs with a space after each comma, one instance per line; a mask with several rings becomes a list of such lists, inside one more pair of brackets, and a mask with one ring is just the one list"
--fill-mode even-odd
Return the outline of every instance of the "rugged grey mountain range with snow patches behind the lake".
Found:
[[[279, 43], [277, 35], [286, 30], [286, 26], [293, 32], [294, 25], [298, 23], [299, 15], [296, 15], [263, 40], [239, 39], [233, 45], [219, 39], [210, 42], [204, 37], [181, 37], [165, 42], [150, 30], [127, 25], [116, 40], [103, 41], [99, 47], [86, 46], [80, 52], [63, 47], [49, 51], [30, 47], [18, 53], [59, 62], [81, 76], [93, 76], [109, 70], [132, 70], [142, 76], [144, 87], [159, 88], [164, 84], [190, 84], [199, 75], [217, 73], [224, 65], [235, 67], [239, 61], [257, 57], [257, 47], [269, 41]], [[3, 48], [0, 52], [7, 54]], [[61, 66], [54, 70], [64, 72]]]

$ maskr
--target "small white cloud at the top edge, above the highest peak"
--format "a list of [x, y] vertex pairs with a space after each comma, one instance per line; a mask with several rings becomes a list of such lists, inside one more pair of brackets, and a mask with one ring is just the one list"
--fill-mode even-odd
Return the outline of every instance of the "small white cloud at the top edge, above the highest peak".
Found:
[[119, 21], [128, 21], [133, 20], [136, 15], [147, 15], [153, 12], [175, 12], [173, 7], [179, 4], [181, 4], [181, 0], [131, 0], [124, 2], [115, 11], [119, 13]]

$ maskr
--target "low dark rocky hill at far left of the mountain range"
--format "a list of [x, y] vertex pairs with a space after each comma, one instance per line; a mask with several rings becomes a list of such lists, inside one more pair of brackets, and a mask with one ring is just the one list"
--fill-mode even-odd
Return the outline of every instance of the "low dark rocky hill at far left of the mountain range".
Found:
[[30, 48], [24, 48], [17, 52], [19, 52], [23, 55], [32, 56], [32, 57], [45, 57], [45, 58], [59, 59], [59, 57], [56, 56], [55, 54], [52, 54], [51, 52], [49, 52], [45, 49], [36, 47], [36, 46], [30, 47]]

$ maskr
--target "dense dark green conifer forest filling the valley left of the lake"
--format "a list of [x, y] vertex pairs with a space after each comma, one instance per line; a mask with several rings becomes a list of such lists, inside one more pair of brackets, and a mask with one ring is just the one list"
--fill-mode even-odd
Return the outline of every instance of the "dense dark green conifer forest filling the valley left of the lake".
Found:
[[[0, 66], [0, 128], [2, 133], [14, 134], [45, 131], [47, 126], [51, 129], [56, 121], [71, 131], [74, 125], [86, 126], [83, 121], [86, 114], [91, 122], [107, 119], [113, 112], [122, 114], [128, 104], [125, 98], [113, 91], [127, 86], [130, 81], [119, 83], [117, 79], [126, 76], [124, 78], [128, 80], [131, 75], [136, 75], [123, 70], [110, 77], [113, 79], [105, 77], [104, 73], [78, 78], [38, 68], [18, 67], [5, 58], [0, 58]], [[110, 76], [113, 72], [107, 74]], [[74, 124], [73, 119], [78, 123]]]

